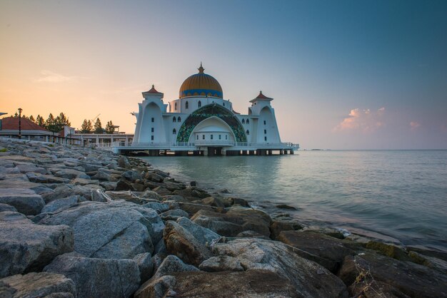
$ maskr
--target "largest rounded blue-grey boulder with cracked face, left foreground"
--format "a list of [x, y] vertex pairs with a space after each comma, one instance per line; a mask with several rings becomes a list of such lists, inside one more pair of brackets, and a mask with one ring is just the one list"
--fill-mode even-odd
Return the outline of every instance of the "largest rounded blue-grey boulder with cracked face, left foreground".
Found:
[[106, 259], [131, 259], [152, 252], [164, 229], [154, 210], [124, 201], [81, 202], [39, 223], [69, 225], [76, 252]]

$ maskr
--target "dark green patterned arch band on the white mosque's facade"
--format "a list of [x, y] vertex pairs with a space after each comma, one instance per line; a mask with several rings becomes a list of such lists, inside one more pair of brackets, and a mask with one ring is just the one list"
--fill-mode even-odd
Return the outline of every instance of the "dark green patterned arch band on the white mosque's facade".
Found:
[[236, 116], [226, 108], [213, 103], [211, 105], [199, 108], [191, 113], [188, 118], [186, 118], [185, 122], [181, 125], [179, 134], [177, 135], [177, 142], [188, 142], [189, 137], [191, 136], [191, 133], [196, 125], [213, 116], [224, 120], [225, 123], [230, 126], [231, 130], [233, 130], [233, 133], [236, 136], [236, 142], [247, 141], [245, 131]]

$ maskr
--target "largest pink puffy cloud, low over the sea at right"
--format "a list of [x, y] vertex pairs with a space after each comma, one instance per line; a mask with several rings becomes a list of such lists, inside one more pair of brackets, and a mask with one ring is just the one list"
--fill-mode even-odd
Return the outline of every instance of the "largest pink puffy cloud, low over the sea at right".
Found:
[[383, 116], [385, 115], [385, 108], [379, 108], [377, 111], [371, 111], [370, 109], [360, 110], [354, 108], [349, 115], [341, 121], [333, 132], [338, 131], [361, 131], [363, 133], [373, 133], [376, 129], [385, 125]]

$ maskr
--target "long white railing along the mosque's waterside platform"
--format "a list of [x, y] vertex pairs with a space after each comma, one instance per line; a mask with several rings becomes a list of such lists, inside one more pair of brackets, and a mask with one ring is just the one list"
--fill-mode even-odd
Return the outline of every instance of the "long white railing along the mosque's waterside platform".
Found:
[[173, 147], [196, 147], [196, 146], [234, 146], [234, 147], [247, 147], [247, 148], [293, 148], [298, 149], [298, 144], [293, 143], [248, 143], [248, 142], [234, 142], [228, 140], [196, 140], [194, 143], [187, 142], [163, 142], [163, 143], [126, 143], [126, 142], [114, 142], [114, 143], [96, 143], [96, 147], [99, 148], [111, 148], [111, 147], [132, 147], [132, 148], [160, 148], [169, 149]]

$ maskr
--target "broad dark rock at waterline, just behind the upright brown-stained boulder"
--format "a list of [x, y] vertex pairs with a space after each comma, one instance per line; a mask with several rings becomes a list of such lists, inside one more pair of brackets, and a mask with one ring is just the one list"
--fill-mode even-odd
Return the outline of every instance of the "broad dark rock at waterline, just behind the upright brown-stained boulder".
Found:
[[191, 217], [193, 222], [207, 227], [221, 236], [235, 237], [238, 233], [252, 230], [270, 236], [271, 218], [265, 212], [242, 207], [232, 207], [226, 213], [199, 210]]

